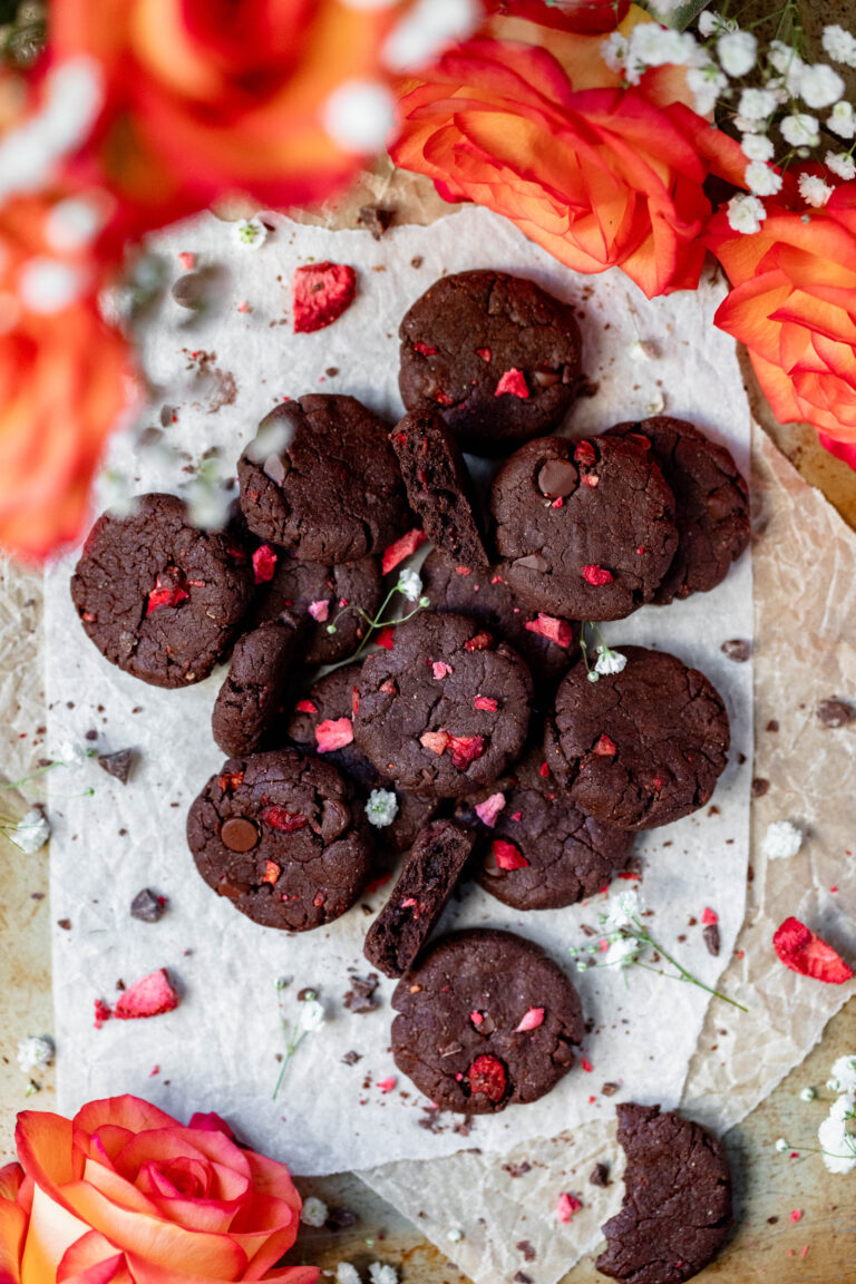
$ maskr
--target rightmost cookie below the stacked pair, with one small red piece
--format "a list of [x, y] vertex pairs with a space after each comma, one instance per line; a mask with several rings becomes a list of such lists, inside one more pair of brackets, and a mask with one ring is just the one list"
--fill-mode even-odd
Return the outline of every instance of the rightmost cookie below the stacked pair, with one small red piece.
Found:
[[725, 705], [676, 656], [624, 646], [621, 673], [572, 669], [556, 695], [545, 759], [571, 802], [619, 829], [653, 829], [703, 806], [729, 747]]

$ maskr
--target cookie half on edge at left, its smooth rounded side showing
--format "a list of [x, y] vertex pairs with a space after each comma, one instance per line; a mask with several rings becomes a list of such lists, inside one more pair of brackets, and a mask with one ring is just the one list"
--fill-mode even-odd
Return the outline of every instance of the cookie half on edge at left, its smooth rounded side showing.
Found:
[[259, 624], [235, 643], [210, 715], [214, 740], [230, 758], [267, 747], [277, 723], [285, 738], [282, 704], [299, 669], [299, 636], [291, 616]]

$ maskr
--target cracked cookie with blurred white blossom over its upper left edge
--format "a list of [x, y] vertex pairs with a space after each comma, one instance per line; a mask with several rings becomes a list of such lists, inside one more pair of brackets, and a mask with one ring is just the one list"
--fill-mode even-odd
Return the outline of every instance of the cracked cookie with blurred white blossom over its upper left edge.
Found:
[[277, 406], [237, 464], [250, 530], [302, 561], [382, 552], [407, 526], [388, 433], [353, 397], [313, 393]]

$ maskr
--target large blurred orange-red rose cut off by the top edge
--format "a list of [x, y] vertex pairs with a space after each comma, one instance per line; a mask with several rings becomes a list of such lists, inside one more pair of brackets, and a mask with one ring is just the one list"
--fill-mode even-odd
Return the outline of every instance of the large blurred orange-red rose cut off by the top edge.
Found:
[[[74, 169], [122, 198], [123, 231], [160, 226], [230, 193], [273, 207], [318, 202], [380, 149], [382, 119], [377, 148], [357, 134], [343, 145], [325, 112], [343, 82], [381, 90], [380, 46], [404, 8], [404, 0], [380, 8], [55, 0], [54, 64], [90, 55], [105, 83], [100, 125]], [[382, 116], [382, 99], [366, 112]], [[358, 105], [344, 114], [347, 126], [359, 123]]]

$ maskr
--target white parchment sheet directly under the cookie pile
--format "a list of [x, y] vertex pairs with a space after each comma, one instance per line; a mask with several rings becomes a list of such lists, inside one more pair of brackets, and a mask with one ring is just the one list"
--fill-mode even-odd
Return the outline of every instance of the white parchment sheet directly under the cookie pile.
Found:
[[[193, 330], [187, 312], [168, 297], [141, 330], [145, 374], [157, 389], [150, 422], [159, 425], [160, 404], [175, 407], [160, 446], [185, 457], [141, 451], [130, 437], [118, 442], [110, 469], [132, 478], [133, 489], [182, 489], [195, 476], [182, 469], [194, 469], [212, 447], [222, 451], [230, 473], [258, 420], [282, 397], [350, 393], [394, 417], [400, 410], [400, 316], [441, 272], [490, 266], [531, 276], [579, 304], [585, 370], [597, 390], [580, 402], [569, 431], [597, 431], [665, 406], [725, 442], [748, 471], [749, 415], [739, 369], [733, 344], [712, 326], [721, 286], [708, 282], [696, 294], [649, 303], [621, 273], [575, 276], [480, 209], [431, 227], [394, 229], [380, 243], [367, 232], [273, 221], [275, 234], [257, 252], [241, 249], [228, 225], [213, 217], [158, 239], [171, 279], [181, 275], [181, 252], [196, 254], [199, 266], [221, 267], [228, 279], [225, 306]], [[293, 335], [291, 272], [313, 258], [353, 263], [358, 297], [330, 329]], [[649, 356], [639, 354], [637, 340]], [[171, 692], [108, 665], [72, 609], [72, 565], [73, 559], [58, 565], [46, 582], [50, 745], [85, 743], [94, 731], [98, 738], [86, 743], [101, 751], [133, 746], [139, 763], [127, 787], [90, 764], [94, 797], [53, 799], [53, 917], [72, 922], [54, 936], [64, 1111], [117, 1091], [139, 1093], [180, 1117], [217, 1109], [246, 1141], [287, 1159], [294, 1171], [322, 1174], [448, 1156], [462, 1145], [509, 1149], [594, 1125], [611, 1117], [621, 1099], [666, 1108], [679, 1103], [707, 995], [640, 971], [579, 976], [592, 1023], [585, 1046], [592, 1071], [578, 1068], [536, 1104], [480, 1117], [467, 1140], [450, 1117], [431, 1130], [420, 1126], [429, 1103], [400, 1076], [394, 1090], [381, 1093], [379, 1082], [397, 1075], [389, 1053], [393, 985], [382, 982], [373, 1013], [354, 1014], [343, 1005], [349, 969], [368, 971], [362, 940], [370, 912], [358, 905], [327, 930], [290, 937], [258, 927], [209, 891], [196, 874], [184, 827], [193, 797], [222, 763], [209, 718], [223, 670]], [[698, 665], [729, 707], [733, 752], [712, 811], [644, 835], [637, 847], [643, 903], [655, 912], [652, 932], [715, 985], [744, 907], [752, 673], [751, 664], [729, 661], [720, 647], [752, 636], [749, 559], [712, 593], [646, 609], [610, 625], [607, 636], [613, 645], [657, 645]], [[157, 924], [130, 917], [131, 899], [144, 886], [169, 898]], [[377, 892], [362, 905], [373, 913], [381, 903]], [[720, 917], [719, 958], [705, 949], [701, 923], [689, 926], [706, 905]], [[567, 948], [584, 942], [580, 923], [595, 924], [597, 912], [598, 899], [516, 915], [467, 887], [443, 926], [511, 927], [570, 968]], [[95, 1030], [94, 1000], [113, 999], [117, 980], [130, 985], [157, 967], [169, 968], [178, 981], [181, 1005], [148, 1022], [112, 1021]], [[275, 1054], [284, 1046], [273, 985], [280, 976], [294, 978], [286, 995], [302, 986], [318, 989], [327, 1023], [295, 1055], [275, 1103]], [[355, 1066], [343, 1063], [350, 1050], [361, 1054]], [[616, 1098], [601, 1094], [607, 1081], [621, 1085]]]

